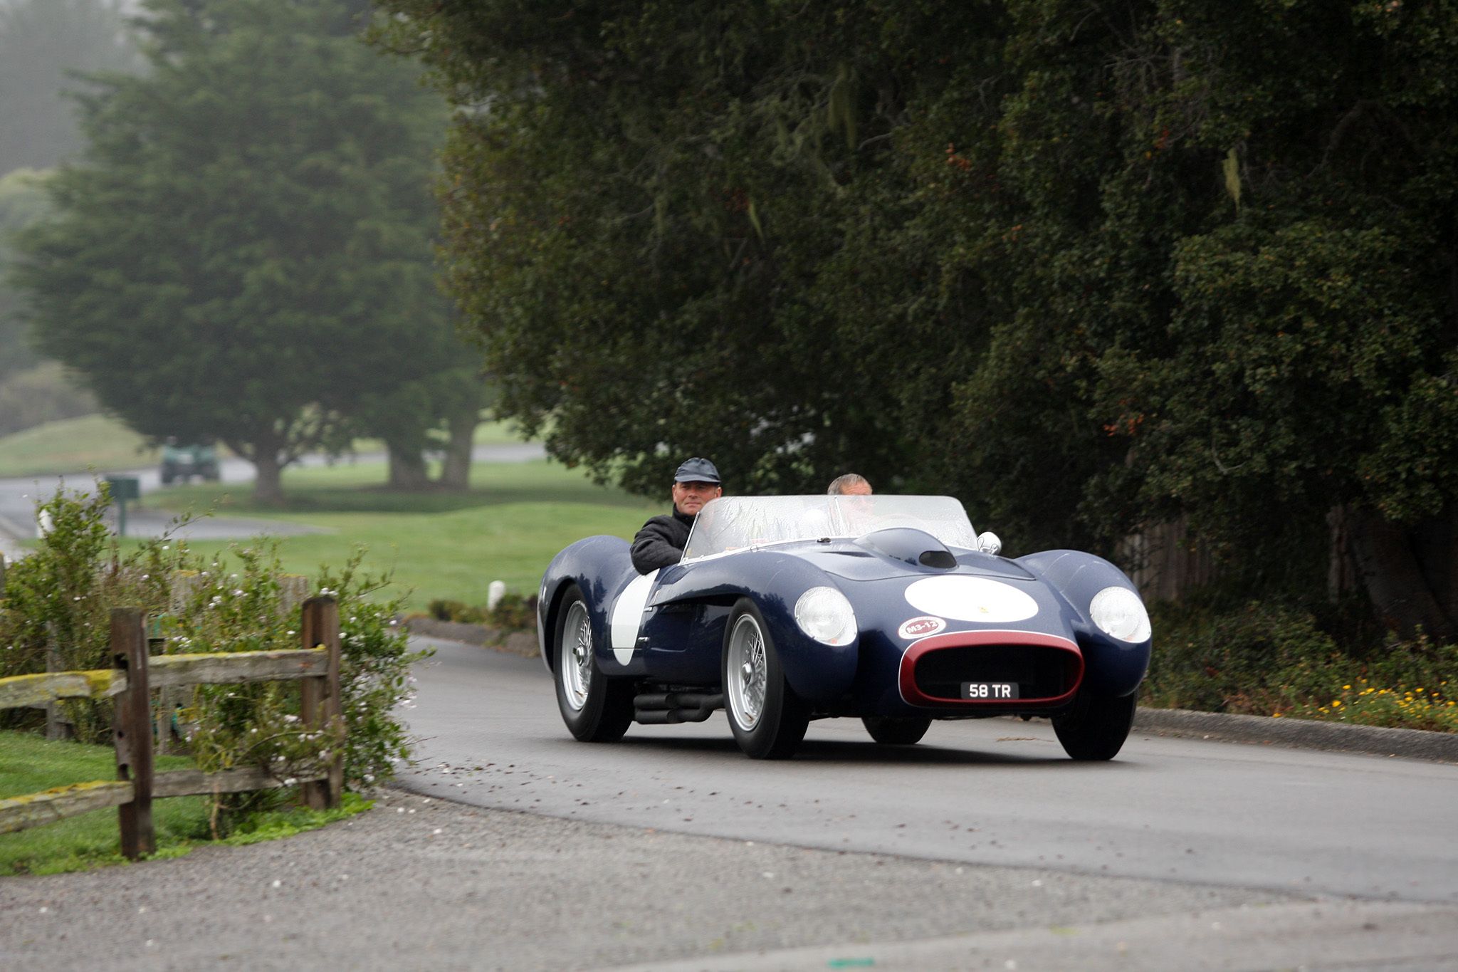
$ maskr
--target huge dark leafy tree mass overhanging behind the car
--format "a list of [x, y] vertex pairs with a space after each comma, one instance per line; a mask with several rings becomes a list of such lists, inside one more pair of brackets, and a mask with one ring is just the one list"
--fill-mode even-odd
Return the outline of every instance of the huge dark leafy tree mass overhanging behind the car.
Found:
[[[1452, 3], [382, 0], [503, 409], [1458, 632]], [[1328, 571], [1328, 564], [1331, 570]]]

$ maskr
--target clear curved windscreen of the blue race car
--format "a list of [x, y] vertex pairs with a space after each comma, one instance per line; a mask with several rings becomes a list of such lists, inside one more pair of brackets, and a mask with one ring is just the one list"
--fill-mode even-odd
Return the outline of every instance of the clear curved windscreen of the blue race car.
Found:
[[698, 513], [684, 560], [891, 526], [926, 530], [946, 546], [977, 549], [967, 510], [949, 495], [726, 495]]

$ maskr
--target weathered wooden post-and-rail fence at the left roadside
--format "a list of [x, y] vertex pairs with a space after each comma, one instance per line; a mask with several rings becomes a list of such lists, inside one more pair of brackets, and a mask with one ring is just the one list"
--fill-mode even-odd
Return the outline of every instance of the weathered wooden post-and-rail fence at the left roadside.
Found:
[[[223, 654], [157, 654], [147, 647], [140, 608], [112, 608], [112, 667], [92, 672], [47, 672], [0, 679], [0, 708], [45, 705], [67, 698], [115, 697], [112, 742], [117, 781], [76, 783], [42, 793], [0, 800], [0, 834], [51, 823], [77, 813], [117, 807], [121, 853], [131, 860], [157, 850], [152, 801], [162, 797], [245, 793], [284, 785], [262, 767], [222, 772], [174, 769], [153, 772], [152, 689], [178, 685], [238, 685], [303, 679], [300, 717], [328, 727], [340, 708], [340, 612], [334, 597], [303, 602], [302, 648]], [[335, 807], [344, 788], [344, 758], [335, 753], [321, 775], [295, 780], [315, 809]]]

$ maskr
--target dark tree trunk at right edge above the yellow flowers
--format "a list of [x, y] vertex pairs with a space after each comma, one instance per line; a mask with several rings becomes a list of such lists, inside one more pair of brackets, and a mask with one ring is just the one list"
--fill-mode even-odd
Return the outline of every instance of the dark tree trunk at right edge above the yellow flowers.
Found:
[[[1346, 519], [1347, 541], [1357, 576], [1372, 597], [1378, 619], [1403, 638], [1416, 637], [1419, 628], [1438, 640], [1452, 640], [1458, 635], [1454, 615], [1443, 606], [1443, 600], [1451, 600], [1452, 592], [1443, 592], [1448, 596], [1439, 599], [1430, 583], [1451, 577], [1454, 560], [1451, 533], [1446, 546], [1438, 552], [1432, 548], [1443, 546], [1442, 538], [1436, 544], [1414, 542], [1423, 533], [1422, 528], [1408, 530], [1388, 523], [1372, 510], [1353, 510]], [[1451, 516], [1445, 520], [1452, 523]], [[1429, 570], [1424, 570], [1424, 563], [1419, 558], [1420, 546], [1429, 548], [1424, 558], [1429, 561], [1426, 564]]]

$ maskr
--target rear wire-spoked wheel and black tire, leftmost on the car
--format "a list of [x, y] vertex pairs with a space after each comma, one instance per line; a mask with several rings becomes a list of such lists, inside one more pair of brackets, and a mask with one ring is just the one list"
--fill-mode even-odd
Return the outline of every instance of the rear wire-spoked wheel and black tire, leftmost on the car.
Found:
[[633, 682], [598, 670], [588, 602], [577, 584], [563, 596], [551, 646], [557, 708], [567, 730], [585, 743], [623, 739], [633, 724]]

